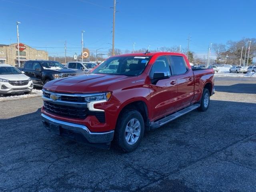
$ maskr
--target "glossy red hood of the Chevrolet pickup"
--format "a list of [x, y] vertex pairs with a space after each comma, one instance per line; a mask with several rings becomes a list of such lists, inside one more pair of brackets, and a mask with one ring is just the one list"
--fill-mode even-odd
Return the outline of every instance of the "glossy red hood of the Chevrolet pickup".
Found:
[[84, 74], [74, 77], [62, 78], [48, 82], [44, 89], [63, 93], [95, 93], [106, 92], [108, 86], [129, 78], [122, 75]]

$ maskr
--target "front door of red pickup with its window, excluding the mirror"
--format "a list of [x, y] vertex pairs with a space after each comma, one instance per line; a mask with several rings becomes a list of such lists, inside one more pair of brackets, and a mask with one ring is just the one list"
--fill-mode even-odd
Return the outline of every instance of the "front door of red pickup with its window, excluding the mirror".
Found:
[[[169, 78], [154, 82], [154, 72], [167, 72]], [[177, 100], [177, 78], [171, 75], [170, 65], [166, 56], [160, 56], [154, 62], [150, 71], [151, 84], [150, 101], [152, 121], [175, 112]]]

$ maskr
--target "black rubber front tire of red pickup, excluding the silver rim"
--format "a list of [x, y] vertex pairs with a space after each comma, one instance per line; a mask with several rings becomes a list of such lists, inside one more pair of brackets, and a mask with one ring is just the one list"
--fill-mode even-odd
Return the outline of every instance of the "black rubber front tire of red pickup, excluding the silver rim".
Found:
[[[128, 144], [126, 141], [126, 126], [132, 120], [136, 118], [140, 122], [140, 135], [138, 136], [137, 141], [134, 144]], [[115, 129], [115, 141], [116, 144], [124, 151], [124, 152], [132, 152], [134, 151], [139, 145], [144, 136], [144, 120], [140, 112], [137, 110], [125, 110], [120, 114], [116, 129]]]

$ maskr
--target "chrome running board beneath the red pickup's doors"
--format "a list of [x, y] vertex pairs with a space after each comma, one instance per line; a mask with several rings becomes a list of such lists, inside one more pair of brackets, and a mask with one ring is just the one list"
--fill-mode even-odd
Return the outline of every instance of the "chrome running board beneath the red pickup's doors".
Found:
[[170, 121], [172, 121], [172, 120], [174, 120], [174, 119], [176, 119], [176, 118], [178, 118], [178, 117], [180, 117], [180, 116], [182, 116], [182, 115], [184, 115], [184, 114], [186, 114], [186, 113], [188, 113], [192, 110], [195, 110], [198, 107], [200, 107], [200, 104], [194, 104], [194, 105], [191, 105], [187, 108], [184, 108], [184, 109], [182, 109], [182, 110], [180, 110], [176, 113], [170, 114], [170, 115], [168, 115], [168, 116], [166, 116], [166, 117], [164, 117], [164, 118], [162, 118], [162, 119], [160, 119], [156, 122], [152, 122], [150, 124], [150, 129], [156, 129], [156, 128], [158, 128], [158, 127], [160, 127], [160, 126], [162, 126], [162, 125], [164, 125], [164, 124], [166, 124], [166, 123], [168, 123], [168, 122], [170, 122]]

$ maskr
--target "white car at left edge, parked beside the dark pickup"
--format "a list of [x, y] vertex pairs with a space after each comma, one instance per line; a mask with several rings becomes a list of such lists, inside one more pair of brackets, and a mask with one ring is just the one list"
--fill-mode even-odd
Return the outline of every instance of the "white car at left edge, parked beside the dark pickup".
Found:
[[31, 78], [24, 75], [16, 67], [0, 64], [0, 95], [30, 94], [33, 89]]

